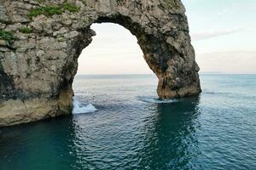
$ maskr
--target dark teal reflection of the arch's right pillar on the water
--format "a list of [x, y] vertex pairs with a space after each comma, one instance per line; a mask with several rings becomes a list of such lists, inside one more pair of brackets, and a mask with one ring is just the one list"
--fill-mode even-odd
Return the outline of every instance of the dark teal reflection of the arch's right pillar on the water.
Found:
[[200, 154], [198, 133], [200, 97], [156, 105], [154, 117], [145, 126], [145, 145], [139, 167], [146, 169], [189, 169]]

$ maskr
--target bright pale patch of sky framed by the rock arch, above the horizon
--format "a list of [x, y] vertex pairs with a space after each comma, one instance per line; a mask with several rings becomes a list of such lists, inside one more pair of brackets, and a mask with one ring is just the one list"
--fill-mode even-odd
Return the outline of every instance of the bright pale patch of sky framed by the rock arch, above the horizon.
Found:
[[92, 42], [79, 55], [76, 75], [152, 74], [137, 37], [119, 24], [93, 24]]

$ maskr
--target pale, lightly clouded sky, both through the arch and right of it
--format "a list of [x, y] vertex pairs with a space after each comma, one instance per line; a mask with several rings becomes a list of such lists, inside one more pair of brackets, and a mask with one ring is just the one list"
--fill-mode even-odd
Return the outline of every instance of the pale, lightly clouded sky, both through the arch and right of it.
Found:
[[[256, 73], [256, 0], [183, 0], [203, 72]], [[93, 24], [96, 37], [78, 74], [148, 74], [137, 38], [116, 24]]]

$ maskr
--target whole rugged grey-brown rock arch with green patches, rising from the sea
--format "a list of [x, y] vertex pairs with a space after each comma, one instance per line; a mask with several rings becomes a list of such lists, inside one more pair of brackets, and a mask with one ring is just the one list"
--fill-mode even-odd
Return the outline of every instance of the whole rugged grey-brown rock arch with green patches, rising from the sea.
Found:
[[137, 37], [161, 98], [201, 92], [180, 0], [0, 0], [0, 126], [70, 114], [72, 83], [93, 23]]

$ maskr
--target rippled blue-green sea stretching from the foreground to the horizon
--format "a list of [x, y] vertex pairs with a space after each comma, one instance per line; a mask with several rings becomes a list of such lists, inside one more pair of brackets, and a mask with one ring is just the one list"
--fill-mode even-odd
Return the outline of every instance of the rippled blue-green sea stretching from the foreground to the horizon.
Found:
[[0, 169], [256, 169], [256, 75], [201, 84], [161, 101], [153, 76], [77, 77], [87, 113], [2, 128]]

